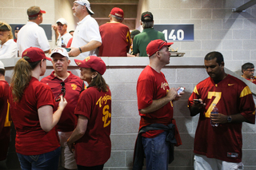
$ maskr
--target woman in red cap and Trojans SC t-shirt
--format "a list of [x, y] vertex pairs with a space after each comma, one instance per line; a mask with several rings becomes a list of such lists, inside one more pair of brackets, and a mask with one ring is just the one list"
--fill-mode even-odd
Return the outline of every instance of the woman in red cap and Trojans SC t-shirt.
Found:
[[102, 170], [111, 152], [111, 93], [102, 77], [106, 64], [96, 56], [74, 61], [88, 87], [81, 93], [74, 110], [78, 125], [67, 144], [71, 152], [75, 148], [78, 170]]

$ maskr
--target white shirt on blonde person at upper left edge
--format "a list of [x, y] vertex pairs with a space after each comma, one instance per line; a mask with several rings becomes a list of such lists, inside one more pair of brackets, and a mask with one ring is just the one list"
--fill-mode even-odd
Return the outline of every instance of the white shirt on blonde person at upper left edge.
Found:
[[18, 57], [17, 44], [14, 39], [10, 39], [3, 45], [0, 45], [0, 59]]

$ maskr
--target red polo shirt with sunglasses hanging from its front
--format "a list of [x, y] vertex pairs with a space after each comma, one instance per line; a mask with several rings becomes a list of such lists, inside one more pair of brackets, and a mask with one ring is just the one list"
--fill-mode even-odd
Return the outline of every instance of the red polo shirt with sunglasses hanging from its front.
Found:
[[[62, 112], [62, 116], [56, 125], [59, 132], [71, 132], [74, 130], [77, 117], [74, 115], [74, 109], [78, 104], [78, 97], [82, 89], [84, 89], [84, 83], [80, 77], [75, 76], [69, 71], [70, 75], [64, 81], [66, 94], [65, 98], [67, 105]], [[54, 75], [54, 71], [47, 77], [41, 80], [42, 83], [49, 85], [54, 97], [57, 97], [62, 91], [62, 80]], [[58, 109], [58, 102], [55, 102], [54, 112]]]

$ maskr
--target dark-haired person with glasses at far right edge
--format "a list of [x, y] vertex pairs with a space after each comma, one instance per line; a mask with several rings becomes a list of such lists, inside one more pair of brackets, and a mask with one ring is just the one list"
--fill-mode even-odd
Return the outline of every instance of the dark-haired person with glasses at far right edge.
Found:
[[254, 64], [250, 62], [246, 62], [246, 64], [242, 65], [242, 76], [246, 80], [253, 82], [256, 84], [256, 77], [254, 77]]

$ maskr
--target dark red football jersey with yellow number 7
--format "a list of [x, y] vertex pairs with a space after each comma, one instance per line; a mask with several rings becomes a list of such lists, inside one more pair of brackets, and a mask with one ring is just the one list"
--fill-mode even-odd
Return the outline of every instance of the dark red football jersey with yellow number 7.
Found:
[[[193, 105], [194, 98], [202, 98], [206, 106], [202, 109], [198, 128], [194, 137], [194, 153], [227, 162], [242, 161], [242, 123], [210, 125], [210, 112], [215, 103], [218, 113], [224, 115], [242, 114], [246, 120], [255, 123], [254, 99], [250, 89], [243, 81], [227, 75], [215, 84], [208, 77], [195, 86], [188, 105]], [[227, 156], [231, 153], [238, 156]]]

